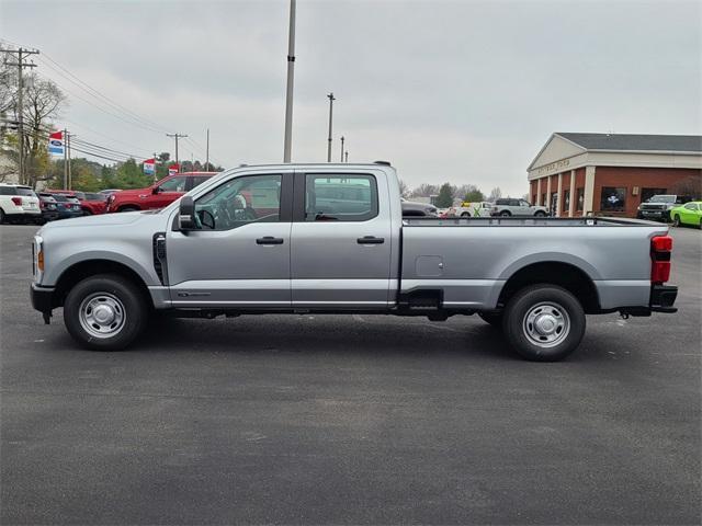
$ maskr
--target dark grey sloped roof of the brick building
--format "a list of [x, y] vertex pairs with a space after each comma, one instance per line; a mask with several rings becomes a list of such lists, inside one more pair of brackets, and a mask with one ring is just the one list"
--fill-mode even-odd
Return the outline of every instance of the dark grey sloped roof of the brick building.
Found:
[[702, 152], [701, 135], [577, 134], [558, 135], [587, 150]]

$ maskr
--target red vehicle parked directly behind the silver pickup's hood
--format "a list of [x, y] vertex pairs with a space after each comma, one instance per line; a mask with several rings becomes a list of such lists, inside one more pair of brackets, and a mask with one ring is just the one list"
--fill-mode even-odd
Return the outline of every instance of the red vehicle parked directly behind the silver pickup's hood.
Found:
[[114, 192], [107, 197], [107, 213], [163, 208], [216, 174], [217, 172], [176, 173], [146, 188]]

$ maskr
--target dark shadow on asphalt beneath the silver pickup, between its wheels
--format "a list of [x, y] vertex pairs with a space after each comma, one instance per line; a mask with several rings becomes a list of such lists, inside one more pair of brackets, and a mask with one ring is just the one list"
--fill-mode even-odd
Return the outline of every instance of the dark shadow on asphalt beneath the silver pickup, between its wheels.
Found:
[[155, 321], [134, 347], [150, 352], [302, 353], [520, 359], [476, 318], [449, 322], [387, 316], [242, 316]]

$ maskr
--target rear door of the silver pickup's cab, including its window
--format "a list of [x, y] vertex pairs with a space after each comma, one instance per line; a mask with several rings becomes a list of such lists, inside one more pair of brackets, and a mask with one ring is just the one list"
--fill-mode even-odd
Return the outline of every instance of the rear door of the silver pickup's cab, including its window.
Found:
[[293, 307], [388, 305], [392, 221], [381, 174], [295, 173], [291, 232]]

